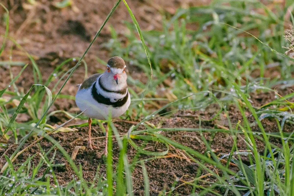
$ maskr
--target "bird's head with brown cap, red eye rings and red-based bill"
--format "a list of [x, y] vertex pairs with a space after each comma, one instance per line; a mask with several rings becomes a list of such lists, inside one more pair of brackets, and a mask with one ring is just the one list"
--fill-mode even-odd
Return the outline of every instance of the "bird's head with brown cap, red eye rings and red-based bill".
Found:
[[113, 78], [112, 82], [116, 82], [116, 84], [121, 82], [126, 82], [126, 63], [121, 57], [112, 57], [107, 62], [107, 68], [105, 71], [108, 78]]

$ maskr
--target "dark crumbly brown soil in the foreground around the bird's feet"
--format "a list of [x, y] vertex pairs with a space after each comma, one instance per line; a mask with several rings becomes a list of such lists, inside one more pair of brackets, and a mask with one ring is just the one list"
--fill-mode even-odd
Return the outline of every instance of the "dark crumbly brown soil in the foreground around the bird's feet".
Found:
[[[267, 102], [271, 99], [268, 97], [267, 94], [259, 94], [258, 98], [267, 97], [265, 98]], [[255, 101], [255, 100], [253, 100]], [[213, 121], [208, 121], [212, 119], [215, 114], [215, 106], [207, 108], [204, 112], [195, 112], [195, 111], [178, 111], [171, 116], [167, 117], [154, 117], [149, 122], [153, 124], [161, 124], [163, 128], [168, 127], [185, 127], [185, 128], [199, 128], [199, 118], [205, 119], [201, 122], [201, 128], [228, 128], [228, 120], [226, 117], [225, 112], [222, 112], [219, 117], [217, 117]], [[234, 106], [230, 106], [228, 109], [228, 115], [230, 117], [231, 123], [233, 126], [238, 122], [238, 120], [243, 121], [242, 116], [238, 109]], [[254, 122], [253, 117], [251, 117], [248, 111], [245, 112], [247, 118], [249, 119], [250, 123]], [[133, 125], [131, 122], [124, 122], [124, 121], [116, 121], [114, 122], [116, 128], [118, 129], [120, 134], [126, 134], [126, 131]], [[263, 127], [266, 132], [278, 132], [278, 128], [276, 125], [276, 121], [274, 118], [263, 119], [262, 120]], [[143, 127], [142, 127], [143, 128]], [[286, 124], [284, 131], [285, 132], [292, 132], [294, 128], [293, 124]], [[87, 127], [80, 127], [76, 132], [59, 132], [53, 134], [53, 138], [60, 142], [61, 146], [67, 151], [69, 155], [74, 150], [76, 146], [86, 146], [87, 145]], [[260, 132], [258, 126], [253, 126], [252, 130], [255, 132]], [[93, 139], [94, 145], [98, 148], [98, 150], [80, 150], [78, 155], [76, 156], [76, 160], [74, 162], [78, 166], [79, 164], [83, 167], [83, 177], [85, 180], [90, 181], [93, 180], [97, 167], [100, 165], [99, 174], [105, 175], [106, 173], [106, 164], [103, 161], [103, 157], [101, 158], [101, 153], [103, 152], [104, 148], [104, 134], [101, 131], [101, 128], [98, 125], [93, 125], [92, 127], [92, 137], [102, 137], [99, 139]], [[175, 131], [175, 132], [162, 132], [162, 135], [172, 139], [180, 144], [184, 144], [187, 147], [190, 147], [197, 152], [200, 152], [206, 155], [207, 148], [201, 139], [201, 135], [199, 132], [186, 132], [186, 131]], [[203, 133], [205, 139], [208, 142], [211, 142], [211, 149], [216, 151], [216, 154], [228, 154], [233, 146], [233, 139], [229, 133], [221, 133], [216, 132], [213, 134], [211, 132], [204, 132]], [[239, 150], [247, 150], [246, 144], [243, 141], [243, 136], [238, 136], [237, 139], [237, 147]], [[142, 142], [140, 140], [134, 139], [138, 145]], [[13, 142], [13, 141], [11, 141]], [[32, 141], [31, 141], [32, 142]], [[26, 143], [25, 146], [29, 145], [31, 142]], [[270, 137], [270, 142], [272, 144], [281, 147], [280, 139], [276, 137]], [[52, 143], [43, 139], [39, 142], [40, 146], [44, 151], [49, 150], [52, 147]], [[263, 154], [264, 151], [264, 142], [260, 139], [256, 139], [257, 149], [258, 151]], [[11, 155], [14, 150], [16, 149], [16, 145], [9, 144], [9, 150], [6, 152], [6, 155]], [[149, 142], [146, 145], [147, 150], [153, 152], [163, 152], [166, 150], [166, 147], [163, 146], [161, 143], [158, 142]], [[128, 144], [127, 148], [127, 155], [129, 162], [134, 160], [135, 155], [138, 153], [130, 144]], [[0, 156], [3, 155], [6, 149], [1, 150]], [[21, 156], [19, 156], [14, 163], [19, 164], [24, 162], [30, 156], [40, 152], [39, 147], [35, 144], [33, 147], [29, 148], [25, 151]], [[163, 189], [167, 191], [170, 190], [171, 186], [178, 178], [180, 179], [179, 182], [176, 183], [176, 187], [181, 185], [184, 181], [193, 180], [196, 177], [197, 171], [200, 169], [198, 164], [194, 163], [193, 161], [189, 161], [185, 156], [185, 152], [180, 150], [171, 149], [169, 151], [171, 154], [170, 156], [177, 155], [177, 157], [165, 157], [165, 158], [157, 158], [150, 161], [146, 161], [146, 170], [148, 172], [149, 182], [150, 182], [150, 192], [151, 195], [158, 195]], [[49, 154], [48, 158], [50, 159], [52, 156], [52, 152]], [[114, 165], [118, 162], [118, 154], [119, 154], [119, 147], [115, 139], [113, 139], [113, 162]], [[146, 159], [151, 156], [147, 155], [139, 155], [138, 159]], [[242, 157], [243, 162], [245, 164], [250, 164], [248, 161], [248, 157]], [[40, 160], [39, 155], [37, 154], [33, 160], [32, 164], [38, 164]], [[197, 159], [198, 160], [198, 159]], [[198, 160], [201, 161], [201, 160]], [[3, 158], [0, 161], [0, 167], [5, 164], [6, 160]], [[74, 171], [70, 167], [70, 165], [66, 162], [65, 158], [63, 157], [62, 153], [57, 151], [55, 157], [55, 164], [57, 163], [65, 163], [64, 167], [57, 167], [55, 168], [54, 172], [59, 180], [60, 185], [66, 185], [67, 182], [71, 181], [73, 177], [76, 178]], [[225, 163], [224, 163], [225, 164]], [[207, 167], [211, 167], [211, 165], [206, 164]], [[233, 171], [238, 171], [238, 168], [235, 166], [230, 166], [229, 169]], [[43, 175], [44, 171], [46, 170], [46, 165], [44, 164], [39, 171], [39, 175]], [[219, 175], [221, 175], [221, 171], [217, 170]], [[202, 171], [201, 175], [205, 175], [207, 172], [205, 170]], [[134, 193], [135, 195], [144, 195], [144, 181], [142, 176], [142, 168], [139, 165], [136, 165], [133, 168], [133, 185], [134, 185]], [[214, 182], [216, 179], [213, 176], [206, 176], [203, 177], [202, 180], [206, 181], [207, 183], [201, 182], [203, 186], [209, 186], [208, 182]], [[176, 188], [174, 194], [180, 195], [189, 195], [191, 193], [192, 186], [191, 185], [183, 185], [181, 187]], [[196, 189], [196, 191], [199, 191]], [[222, 190], [217, 189], [217, 192], [223, 194]], [[212, 194], [206, 194], [212, 195]], [[229, 195], [233, 195], [230, 193]]]

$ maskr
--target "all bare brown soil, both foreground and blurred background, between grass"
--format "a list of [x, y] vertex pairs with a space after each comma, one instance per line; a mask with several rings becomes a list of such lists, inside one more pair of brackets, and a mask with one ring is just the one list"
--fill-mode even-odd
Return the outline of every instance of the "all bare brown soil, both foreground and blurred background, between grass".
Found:
[[[57, 65], [62, 61], [71, 57], [81, 57], [83, 52], [88, 47], [91, 39], [96, 34], [96, 31], [103, 23], [107, 14], [112, 9], [115, 1], [84, 1], [76, 0], [73, 4], [66, 8], [57, 8], [55, 3], [57, 1], [38, 1], [36, 4], [31, 5], [28, 1], [13, 1], [6, 0], [4, 5], [9, 9], [10, 23], [9, 23], [9, 36], [16, 40], [23, 49], [34, 57], [36, 63], [40, 66], [42, 72], [43, 80], [46, 80], [48, 73], [51, 73]], [[98, 2], [98, 1], [97, 1]], [[180, 6], [188, 7], [193, 5], [199, 5], [199, 2], [182, 0], [182, 1], [127, 1], [130, 8], [132, 9], [134, 15], [136, 16], [138, 23], [142, 30], [152, 30], [161, 29], [161, 18], [165, 15], [167, 18], [175, 14], [176, 9]], [[208, 4], [209, 1], [202, 1], [201, 4]], [[4, 9], [0, 8], [0, 13], [4, 13]], [[2, 14], [1, 14], [1, 17]], [[2, 18], [3, 19], [3, 18]], [[118, 9], [114, 12], [108, 21], [106, 28], [103, 29], [101, 35], [95, 41], [88, 54], [86, 54], [85, 61], [88, 64], [88, 74], [94, 74], [98, 69], [103, 69], [103, 65], [97, 63], [96, 58], [107, 61], [109, 58], [109, 51], [107, 51], [102, 45], [103, 43], [109, 41], [111, 38], [108, 26], [113, 26], [118, 32], [118, 36], [123, 40], [123, 34], [126, 31], [126, 27], [123, 24], [123, 20], [131, 21], [128, 12], [121, 3]], [[4, 26], [0, 25], [0, 34], [4, 34]], [[3, 37], [0, 37], [0, 42]], [[30, 63], [28, 57], [26, 56], [24, 50], [15, 47], [11, 41], [8, 41], [5, 50], [0, 57], [1, 61], [9, 61], [11, 56], [12, 61], [21, 61], [25, 63]], [[10, 55], [10, 53], [12, 55]], [[74, 62], [67, 65], [65, 69], [74, 66]], [[14, 66], [12, 67], [13, 75], [16, 75], [21, 68]], [[31, 85], [34, 83], [32, 78], [32, 65], [24, 71], [21, 77], [16, 82], [16, 85], [21, 89], [21, 91], [26, 92]], [[128, 74], [130, 74], [134, 79], [140, 79], [144, 77], [144, 73], [138, 73], [128, 69]], [[76, 84], [83, 81], [84, 68], [80, 66], [74, 76], [66, 84], [66, 87], [62, 90], [62, 94], [74, 95], [76, 93]], [[7, 66], [0, 67], [0, 89], [6, 87], [10, 82], [9, 68]], [[54, 85], [54, 84], [51, 84]], [[53, 86], [49, 86], [52, 88]], [[291, 92], [291, 87], [280, 88], [280, 94], [288, 94]], [[270, 102], [275, 99], [275, 94], [270, 93], [259, 93], [252, 94], [251, 100], [255, 107], [259, 107], [262, 104]], [[69, 112], [77, 112], [74, 101], [64, 102], [57, 99], [51, 111], [56, 109], [66, 110]], [[228, 114], [232, 124], [236, 124], [238, 120], [242, 121], [242, 116], [238, 109], [233, 106], [228, 106]], [[150, 120], [153, 124], [160, 123], [162, 127], [187, 127], [187, 128], [198, 128], [199, 118], [202, 119], [212, 119], [216, 114], [215, 107], [207, 108], [204, 112], [195, 111], [178, 111], [170, 116], [155, 117]], [[253, 117], [250, 116], [249, 112], [246, 112], [250, 122], [254, 122]], [[25, 117], [19, 119], [19, 121], [28, 121]], [[66, 119], [59, 118], [55, 116], [50, 119], [51, 123], [61, 123]], [[85, 121], [86, 122], [86, 121]], [[275, 119], [264, 119], [262, 121], [265, 131], [267, 132], [278, 132]], [[120, 132], [120, 134], [125, 134], [127, 130], [131, 127], [132, 123], [117, 121], [115, 125]], [[227, 127], [228, 122], [225, 117], [225, 113], [221, 113], [220, 116], [214, 121], [202, 121], [201, 127], [203, 128], [220, 128]], [[75, 146], [85, 146], [87, 144], [87, 127], [77, 128], [76, 132], [67, 133], [57, 133], [53, 137], [65, 148], [65, 150], [71, 155]], [[257, 126], [254, 126], [253, 131], [259, 131]], [[291, 132], [293, 130], [293, 125], [286, 124], [284, 131]], [[162, 132], [162, 134], [176, 142], [185, 144], [186, 146], [201, 152], [206, 153], [206, 147], [201, 142], [201, 136], [198, 132]], [[92, 137], [103, 137], [103, 133], [98, 125], [93, 125]], [[218, 153], [229, 153], [232, 147], [232, 137], [229, 134], [216, 133], [211, 135], [211, 133], [204, 133], [204, 136], [208, 141], [211, 140], [211, 148], [216, 150]], [[213, 136], [213, 137], [212, 137]], [[75, 142], [74, 142], [75, 141]], [[88, 150], [79, 151], [75, 163], [78, 165], [81, 163], [83, 166], [83, 177], [85, 180], [91, 181], [95, 175], [98, 165], [101, 164], [99, 172], [105, 174], [105, 163], [101, 159], [101, 152], [103, 151], [104, 139], [93, 139], [94, 144], [98, 147], [98, 150]], [[32, 141], [28, 141], [25, 146], [29, 145]], [[140, 141], [135, 140], [138, 144]], [[276, 138], [271, 138], [271, 142], [277, 146], [280, 146], [280, 141]], [[14, 146], [13, 141], [9, 141], [9, 150], [6, 155], [11, 155], [16, 146]], [[52, 144], [49, 141], [42, 140], [39, 142], [44, 150], [49, 150]], [[148, 144], [151, 148], [148, 150], [153, 150], [155, 152], [160, 152], [164, 150], [164, 147], [158, 143]], [[258, 150], [263, 153], [264, 144], [260, 140], [257, 140]], [[245, 143], [242, 139], [238, 139], [238, 149], [246, 150]], [[0, 151], [0, 156], [3, 155], [6, 149]], [[31, 149], [24, 152], [15, 163], [22, 163], [29, 156], [40, 152], [37, 145], [34, 145]], [[175, 150], [170, 151], [172, 154], [176, 154]], [[113, 140], [113, 155], [114, 155], [114, 165], [118, 160], [119, 148], [115, 140]], [[133, 160], [136, 151], [133, 147], [128, 144], [128, 159]], [[52, 155], [52, 154], [51, 154]], [[50, 156], [51, 156], [50, 155]], [[178, 152], [178, 155], [182, 155]], [[49, 156], [49, 157], [50, 157]], [[37, 155], [32, 162], [39, 162], [39, 156]], [[140, 155], [140, 159], [148, 158], [146, 155]], [[58, 161], [57, 161], [58, 160]], [[244, 160], [246, 163], [246, 160]], [[0, 167], [5, 163], [5, 159], [2, 158], [0, 161]], [[65, 185], [67, 182], [72, 180], [74, 175], [73, 170], [68, 165], [68, 163], [63, 158], [62, 154], [58, 151], [56, 154], [56, 163], [65, 163], [66, 166], [61, 168], [56, 168], [55, 173], [61, 185]], [[237, 168], [231, 166], [232, 170], [237, 171]], [[176, 186], [183, 183], [183, 181], [193, 180], [199, 169], [198, 165], [189, 162], [185, 158], [170, 157], [155, 159], [146, 162], [146, 169], [148, 172], [148, 177], [150, 181], [150, 191], [151, 195], [158, 195], [163, 189], [170, 190], [173, 182], [176, 178], [180, 178], [180, 181]], [[45, 165], [40, 170], [40, 175], [45, 170]], [[201, 175], [206, 174], [205, 171]], [[221, 175], [221, 173], [220, 173]], [[144, 195], [144, 183], [141, 167], [135, 166], [133, 169], [133, 184], [135, 195]], [[214, 181], [214, 177], [206, 177], [203, 180]], [[203, 183], [203, 185], [208, 185]], [[184, 185], [175, 190], [175, 194], [189, 195], [192, 187], [190, 185]], [[216, 190], [222, 194], [223, 190]], [[232, 195], [232, 193], [230, 193]], [[210, 195], [210, 194], [207, 194]]]

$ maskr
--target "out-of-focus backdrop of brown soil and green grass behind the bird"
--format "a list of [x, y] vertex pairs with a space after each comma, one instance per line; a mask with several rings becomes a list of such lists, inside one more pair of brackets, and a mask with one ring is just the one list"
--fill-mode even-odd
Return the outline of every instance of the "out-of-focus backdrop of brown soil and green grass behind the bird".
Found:
[[[49, 73], [66, 59], [81, 57], [114, 3], [4, 1], [9, 11], [9, 32], [0, 56], [1, 88], [6, 87], [11, 74], [16, 75], [26, 63], [29, 67], [16, 82], [20, 92], [27, 92], [36, 82], [46, 81]], [[143, 32], [153, 68], [153, 80], [143, 102], [148, 111], [199, 91], [230, 90], [232, 82], [247, 85], [252, 91], [260, 85], [268, 88], [281, 83], [293, 85], [292, 62], [270, 52], [252, 36], [277, 52], [287, 51], [283, 46], [287, 47], [285, 30], [290, 29], [293, 22], [290, 1], [142, 0], [128, 4]], [[3, 7], [1, 13], [0, 39], [3, 41], [8, 16]], [[34, 59], [42, 78], [32, 74], [36, 70], [27, 54]], [[123, 4], [110, 17], [62, 94], [73, 96], [76, 84], [91, 74], [103, 72], [107, 59], [115, 55], [123, 57], [128, 65], [128, 84], [134, 100], [128, 115], [137, 119], [138, 105], [151, 69]], [[288, 55], [291, 56], [291, 52]], [[49, 89], [75, 63], [65, 63], [49, 82]], [[52, 110], [77, 112], [73, 97], [67, 98], [66, 102], [57, 99]], [[193, 98], [179, 103], [179, 108], [205, 108], [208, 104], [199, 102], [201, 97]], [[146, 110], [142, 111], [143, 115], [150, 113]]]

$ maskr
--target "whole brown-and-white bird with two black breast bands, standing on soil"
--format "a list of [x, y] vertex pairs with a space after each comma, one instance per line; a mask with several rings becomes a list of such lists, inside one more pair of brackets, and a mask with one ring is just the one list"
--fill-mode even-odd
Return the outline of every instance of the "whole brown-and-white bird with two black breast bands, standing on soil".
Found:
[[[112, 118], [120, 117], [131, 104], [128, 92], [126, 63], [118, 56], [111, 57], [104, 73], [93, 74], [78, 85], [76, 105], [89, 117], [88, 145], [91, 142], [92, 118], [107, 120], [109, 112]], [[108, 126], [106, 126], [106, 142], [104, 154], [107, 156]]]

